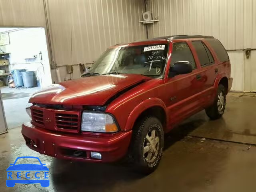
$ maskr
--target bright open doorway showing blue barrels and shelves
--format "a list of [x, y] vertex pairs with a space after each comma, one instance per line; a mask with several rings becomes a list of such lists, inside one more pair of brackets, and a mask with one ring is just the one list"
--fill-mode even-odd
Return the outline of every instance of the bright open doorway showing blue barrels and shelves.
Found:
[[0, 89], [8, 129], [30, 118], [30, 96], [52, 84], [44, 28], [0, 27]]

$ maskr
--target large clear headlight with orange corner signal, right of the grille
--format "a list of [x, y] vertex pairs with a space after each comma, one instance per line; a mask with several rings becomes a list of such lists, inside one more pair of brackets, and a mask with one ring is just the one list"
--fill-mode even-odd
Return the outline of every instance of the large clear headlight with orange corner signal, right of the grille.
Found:
[[118, 127], [110, 114], [83, 112], [81, 130], [113, 133], [118, 131]]

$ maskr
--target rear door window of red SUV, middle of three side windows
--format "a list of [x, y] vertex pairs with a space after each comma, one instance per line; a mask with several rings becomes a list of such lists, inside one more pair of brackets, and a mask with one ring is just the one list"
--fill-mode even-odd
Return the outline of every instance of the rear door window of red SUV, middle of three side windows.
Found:
[[212, 57], [211, 52], [208, 50], [208, 48], [202, 41], [193, 41], [192, 45], [196, 49], [200, 65], [202, 67], [214, 63], [214, 59]]

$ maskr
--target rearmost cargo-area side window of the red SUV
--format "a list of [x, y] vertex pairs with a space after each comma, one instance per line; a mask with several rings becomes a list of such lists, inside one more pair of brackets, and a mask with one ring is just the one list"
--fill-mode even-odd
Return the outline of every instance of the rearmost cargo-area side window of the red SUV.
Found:
[[213, 48], [214, 52], [216, 53], [218, 59], [221, 62], [225, 62], [229, 60], [228, 54], [218, 39], [206, 39], [206, 41], [210, 44]]

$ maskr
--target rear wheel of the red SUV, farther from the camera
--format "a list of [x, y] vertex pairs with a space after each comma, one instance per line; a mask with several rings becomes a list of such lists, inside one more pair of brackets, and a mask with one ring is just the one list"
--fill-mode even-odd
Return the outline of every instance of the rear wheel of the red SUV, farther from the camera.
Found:
[[211, 120], [220, 118], [226, 107], [226, 89], [222, 84], [218, 85], [216, 98], [212, 106], [205, 109], [207, 116]]

